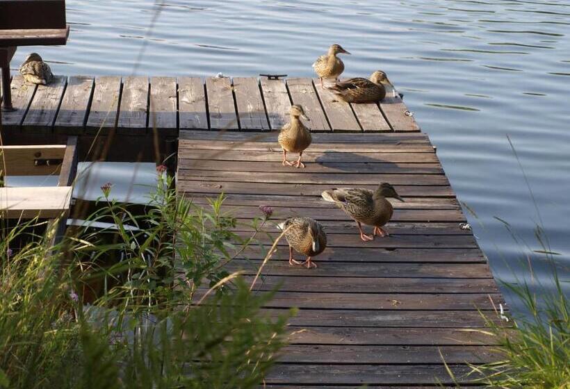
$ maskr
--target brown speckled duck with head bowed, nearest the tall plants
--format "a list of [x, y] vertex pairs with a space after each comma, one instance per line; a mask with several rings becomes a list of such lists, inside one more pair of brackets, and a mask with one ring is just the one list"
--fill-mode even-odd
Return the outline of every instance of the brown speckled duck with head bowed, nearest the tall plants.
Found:
[[[310, 217], [291, 217], [277, 224], [285, 231], [285, 238], [289, 244], [289, 265], [305, 265], [307, 269], [317, 267], [311, 258], [318, 256], [327, 247], [327, 234], [325, 229]], [[299, 262], [293, 258], [293, 250], [307, 256], [307, 260]]]

